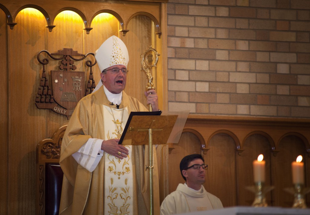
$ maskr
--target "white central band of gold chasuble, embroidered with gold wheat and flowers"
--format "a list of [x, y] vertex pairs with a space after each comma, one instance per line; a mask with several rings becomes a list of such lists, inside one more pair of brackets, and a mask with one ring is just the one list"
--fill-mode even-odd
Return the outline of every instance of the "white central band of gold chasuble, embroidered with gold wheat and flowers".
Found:
[[[120, 138], [128, 119], [128, 110], [103, 106], [105, 140]], [[122, 116], [123, 114], [123, 116]], [[122, 123], [121, 123], [122, 122]], [[127, 158], [104, 153], [104, 214], [133, 214], [133, 174], [131, 146]]]

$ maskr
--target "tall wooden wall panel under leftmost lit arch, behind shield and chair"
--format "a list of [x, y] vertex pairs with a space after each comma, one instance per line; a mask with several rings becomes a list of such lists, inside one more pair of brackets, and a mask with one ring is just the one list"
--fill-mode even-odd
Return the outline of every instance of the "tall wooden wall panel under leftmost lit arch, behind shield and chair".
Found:
[[[45, 20], [22, 11], [15, 19], [19, 28], [8, 30], [8, 208], [9, 214], [34, 213], [35, 142], [47, 134], [46, 110], [36, 110], [40, 65], [35, 53], [46, 49]], [[51, 119], [53, 120], [53, 119]], [[25, 180], [27, 178], [27, 180]], [[15, 182], [13, 182], [15, 181]], [[14, 204], [12, 204], [14, 203]]]

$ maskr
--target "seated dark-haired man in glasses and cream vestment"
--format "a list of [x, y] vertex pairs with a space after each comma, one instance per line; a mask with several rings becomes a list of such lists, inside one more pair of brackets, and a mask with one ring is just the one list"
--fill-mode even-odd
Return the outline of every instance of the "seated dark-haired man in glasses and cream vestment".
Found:
[[206, 181], [204, 159], [199, 154], [187, 155], [180, 163], [182, 177], [186, 181], [166, 196], [160, 214], [179, 214], [223, 208], [221, 200], [208, 193], [202, 184]]

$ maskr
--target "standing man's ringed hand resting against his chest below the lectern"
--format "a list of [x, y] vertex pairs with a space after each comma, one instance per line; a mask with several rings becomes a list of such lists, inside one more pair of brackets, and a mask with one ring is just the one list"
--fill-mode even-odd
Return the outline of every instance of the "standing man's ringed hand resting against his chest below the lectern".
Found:
[[126, 158], [128, 149], [125, 146], [118, 145], [118, 142], [119, 139], [104, 140], [101, 144], [101, 150], [120, 159]]

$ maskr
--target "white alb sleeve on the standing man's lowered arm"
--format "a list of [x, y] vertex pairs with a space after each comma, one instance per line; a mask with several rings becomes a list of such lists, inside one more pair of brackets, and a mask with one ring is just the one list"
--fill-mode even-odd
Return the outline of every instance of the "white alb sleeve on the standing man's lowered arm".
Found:
[[103, 156], [102, 141], [101, 139], [89, 138], [72, 157], [89, 172], [94, 171]]

